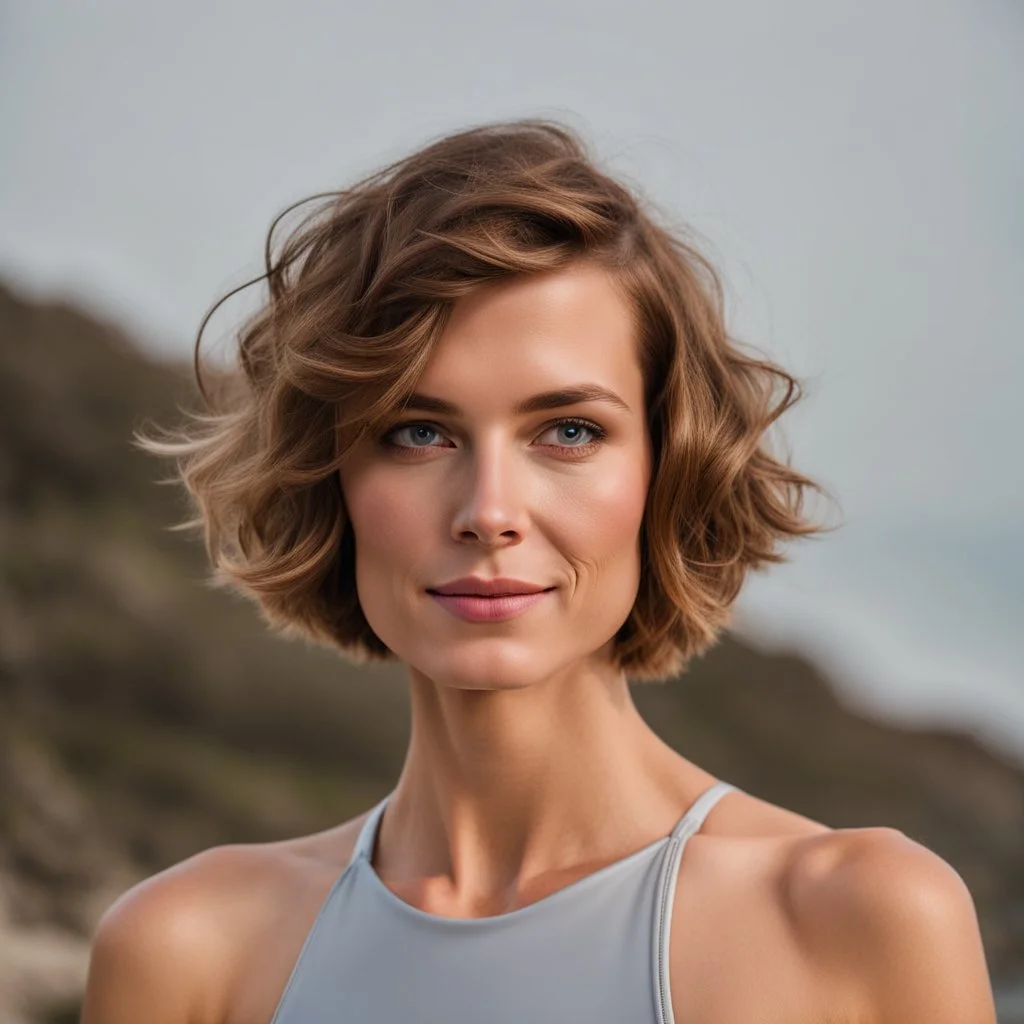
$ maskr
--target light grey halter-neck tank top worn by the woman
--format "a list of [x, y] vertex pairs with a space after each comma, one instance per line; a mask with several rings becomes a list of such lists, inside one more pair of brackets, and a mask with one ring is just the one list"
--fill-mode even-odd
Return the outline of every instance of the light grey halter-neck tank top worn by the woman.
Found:
[[509, 913], [442, 918], [370, 862], [385, 797], [306, 936], [271, 1024], [673, 1024], [669, 924], [679, 860], [716, 782], [671, 835]]

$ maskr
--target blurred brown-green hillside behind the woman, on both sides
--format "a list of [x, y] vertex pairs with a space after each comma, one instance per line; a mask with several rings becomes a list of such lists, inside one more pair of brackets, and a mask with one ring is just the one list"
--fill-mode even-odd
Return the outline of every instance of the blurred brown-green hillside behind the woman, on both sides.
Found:
[[[337, 823], [400, 766], [400, 669], [271, 636], [168, 531], [183, 500], [130, 439], [190, 395], [115, 329], [0, 288], [0, 1024], [76, 1019], [91, 930], [139, 878]], [[798, 656], [734, 638], [634, 694], [709, 771], [934, 849], [975, 896], [996, 982], [1024, 978], [1020, 765], [854, 715]]]

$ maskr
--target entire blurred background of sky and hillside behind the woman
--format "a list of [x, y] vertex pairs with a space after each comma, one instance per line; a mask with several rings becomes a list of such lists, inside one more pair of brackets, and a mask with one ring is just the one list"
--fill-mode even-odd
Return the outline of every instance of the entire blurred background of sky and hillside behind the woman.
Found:
[[138, 879], [393, 783], [400, 670], [207, 588], [131, 432], [190, 400], [280, 210], [523, 116], [696, 232], [842, 509], [637, 703], [763, 799], [945, 857], [1024, 1021], [1022, 58], [1012, 0], [0, 2], [0, 1024], [77, 1019]]

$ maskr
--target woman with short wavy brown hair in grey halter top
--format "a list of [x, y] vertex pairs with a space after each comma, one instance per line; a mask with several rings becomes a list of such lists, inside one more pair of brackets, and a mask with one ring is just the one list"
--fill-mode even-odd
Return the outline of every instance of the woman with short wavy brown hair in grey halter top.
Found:
[[406, 665], [409, 750], [354, 820], [122, 897], [85, 1024], [993, 1021], [949, 865], [715, 779], [632, 702], [817, 529], [766, 443], [796, 382], [706, 261], [535, 121], [271, 241], [237, 375], [148, 445], [270, 623]]

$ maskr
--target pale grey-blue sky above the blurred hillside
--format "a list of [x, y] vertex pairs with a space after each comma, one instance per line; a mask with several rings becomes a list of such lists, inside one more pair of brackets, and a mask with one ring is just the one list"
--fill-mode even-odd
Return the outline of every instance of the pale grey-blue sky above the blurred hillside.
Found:
[[739, 629], [1024, 760], [1022, 55], [1012, 0], [0, 0], [0, 276], [183, 355], [285, 206], [565, 121], [804, 382], [788, 446], [843, 525]]

